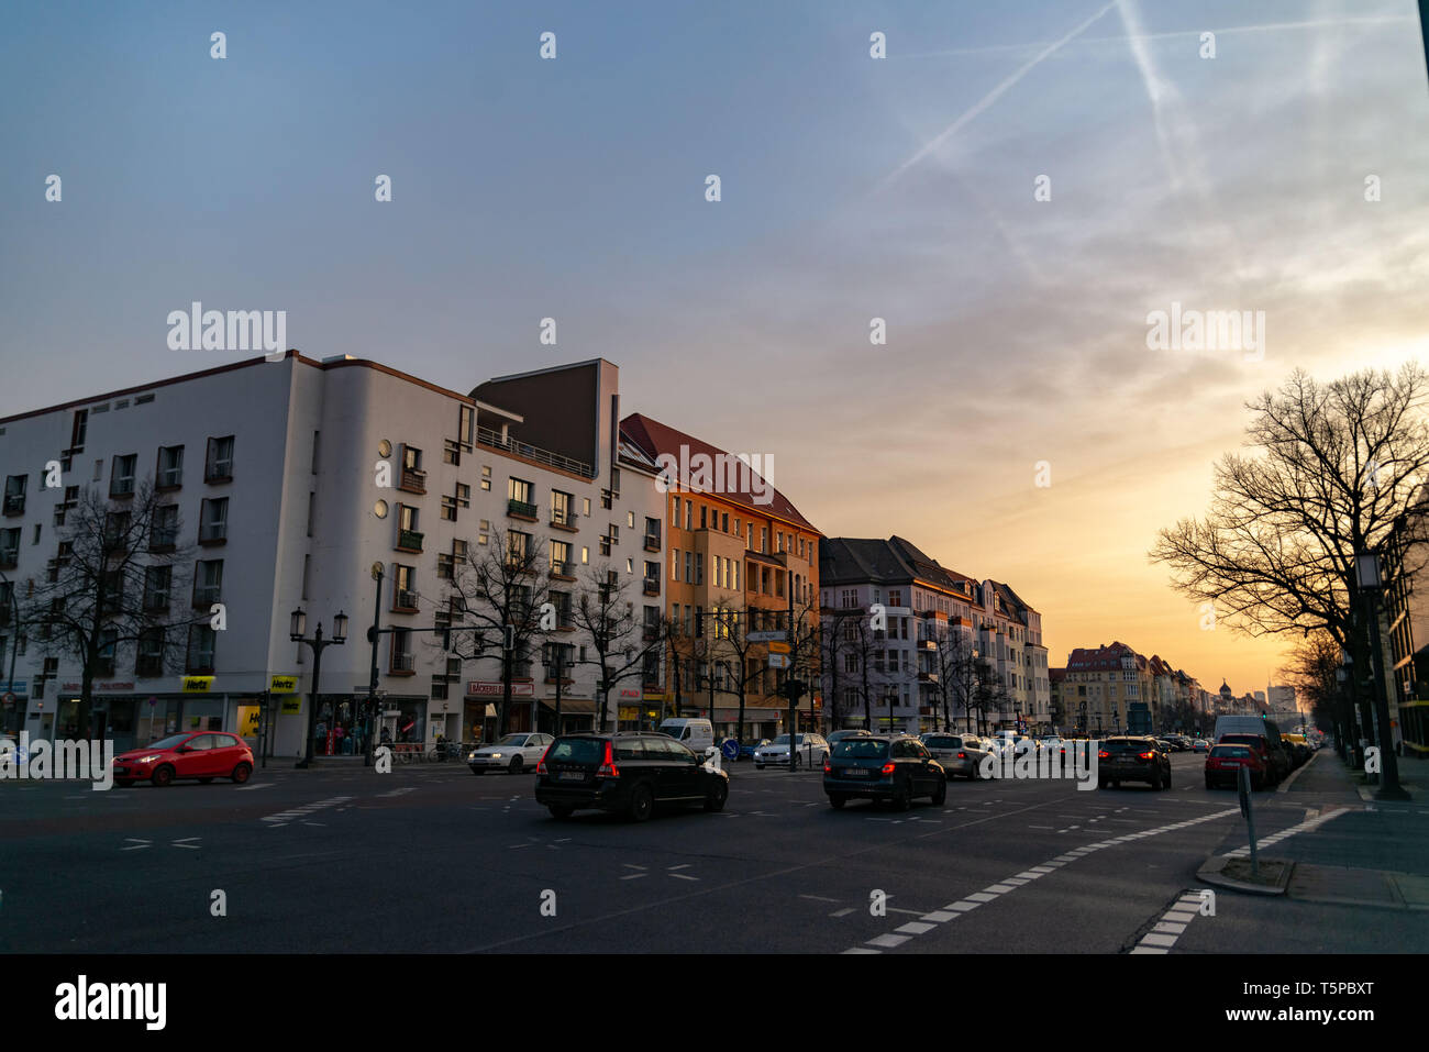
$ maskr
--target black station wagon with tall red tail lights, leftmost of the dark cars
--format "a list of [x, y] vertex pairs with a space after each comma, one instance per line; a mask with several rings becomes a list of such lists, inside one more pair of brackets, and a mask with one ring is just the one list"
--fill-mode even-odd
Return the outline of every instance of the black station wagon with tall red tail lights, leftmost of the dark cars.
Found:
[[729, 775], [667, 735], [563, 735], [536, 765], [536, 802], [554, 818], [612, 810], [634, 822], [657, 803], [720, 810]]

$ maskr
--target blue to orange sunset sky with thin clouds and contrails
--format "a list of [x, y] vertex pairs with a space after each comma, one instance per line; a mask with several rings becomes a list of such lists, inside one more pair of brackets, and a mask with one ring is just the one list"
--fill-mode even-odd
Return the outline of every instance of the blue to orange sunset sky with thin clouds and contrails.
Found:
[[[1242, 692], [1286, 640], [1203, 629], [1156, 532], [1293, 369], [1429, 360], [1413, 0], [3, 17], [0, 416], [249, 356], [170, 350], [193, 300], [463, 392], [603, 356], [826, 535], [1009, 582], [1053, 666]], [[1263, 339], [1149, 346], [1173, 303]]]

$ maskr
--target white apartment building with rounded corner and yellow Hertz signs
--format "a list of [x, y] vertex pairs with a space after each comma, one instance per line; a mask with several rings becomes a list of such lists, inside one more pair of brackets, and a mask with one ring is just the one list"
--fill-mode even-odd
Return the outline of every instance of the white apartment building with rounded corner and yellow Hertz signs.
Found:
[[[139, 646], [116, 649], [93, 700], [117, 748], [190, 729], [256, 740], [262, 708], [264, 750], [302, 755], [313, 655], [290, 639], [299, 607], [309, 636], [317, 625], [332, 636], [339, 612], [350, 619], [346, 643], [323, 652], [320, 719], [356, 722], [376, 615], [383, 629], [399, 629], [377, 637], [386, 728], [413, 742], [490, 736], [499, 640], [463, 662], [430, 632], [463, 623], [447, 596], [463, 557], [520, 535], [549, 560], [554, 603], [573, 602], [593, 573], [614, 572], [633, 615], [650, 605], [659, 617], [662, 600], [647, 585], [659, 590], [663, 579], [664, 497], [654, 466], [622, 443], [617, 380], [614, 364], [594, 359], [496, 377], [463, 394], [374, 362], [316, 362], [290, 350], [277, 362], [239, 362], [3, 419], [0, 605], [9, 610], [13, 595], [23, 612], [30, 582], [64, 559], [66, 513], [83, 487], [100, 487], [121, 509], [147, 479], [174, 509], [176, 549], [193, 553], [191, 566], [176, 567], [186, 590], [166, 587], [154, 602], [167, 603], [174, 622], [221, 603], [226, 625], [184, 629], [181, 672], [156, 668]], [[63, 466], [61, 485], [46, 487], [51, 460]], [[580, 663], [592, 655], [564, 607], [560, 622], [553, 637], [569, 639], [574, 662], [562, 729], [590, 726], [599, 673]], [[79, 660], [51, 653], [9, 613], [0, 639], [4, 678], [11, 653], [16, 668], [6, 729], [61, 735], [74, 715]], [[472, 643], [454, 649], [463, 647]], [[542, 653], [523, 658], [507, 729], [554, 729], [553, 669]], [[662, 679], [657, 668], [649, 675]], [[607, 726], [620, 696], [642, 688], [639, 669], [613, 685]]]

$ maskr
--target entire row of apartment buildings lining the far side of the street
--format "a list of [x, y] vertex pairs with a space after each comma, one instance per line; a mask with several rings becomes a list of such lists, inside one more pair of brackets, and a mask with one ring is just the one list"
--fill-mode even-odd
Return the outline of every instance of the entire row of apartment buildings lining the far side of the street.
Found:
[[[262, 736], [269, 755], [302, 753], [314, 685], [310, 649], [290, 639], [294, 609], [329, 635], [339, 613], [362, 626], [326, 649], [317, 685], [314, 722], [349, 736], [372, 663], [373, 733], [413, 742], [490, 740], [507, 668], [507, 730], [629, 729], [679, 710], [720, 733], [742, 720], [746, 739], [773, 736], [789, 729], [789, 678], [805, 682], [800, 729], [927, 730], [967, 715], [950, 706], [950, 653], [973, 655], [999, 685], [979, 712], [995, 728], [1065, 732], [1083, 705], [1110, 728], [1130, 696], [1206, 705], [1195, 680], [1120, 643], [1049, 669], [1042, 615], [1012, 586], [945, 569], [899, 536], [826, 536], [757, 459], [622, 416], [619, 370], [603, 359], [463, 394], [350, 356], [287, 352], [0, 420], [0, 465], [10, 733], [74, 729], [77, 659], [23, 610], [73, 557], [66, 517], [86, 487], [121, 517], [151, 486], [164, 550], [186, 553], [174, 577], [147, 570], [143, 600], [184, 623], [181, 668], [139, 640], [109, 647], [97, 669], [99, 729], [119, 748], [223, 729]], [[490, 642], [464, 656], [437, 643], [467, 623], [453, 579], [497, 546], [537, 553], [557, 612], [543, 645], [510, 665]], [[607, 690], [573, 616], [597, 575], [637, 626], [623, 655], [634, 659]], [[369, 623], [383, 629], [374, 662]], [[790, 625], [803, 653], [776, 656]], [[1083, 668], [1126, 653], [1125, 685]]]

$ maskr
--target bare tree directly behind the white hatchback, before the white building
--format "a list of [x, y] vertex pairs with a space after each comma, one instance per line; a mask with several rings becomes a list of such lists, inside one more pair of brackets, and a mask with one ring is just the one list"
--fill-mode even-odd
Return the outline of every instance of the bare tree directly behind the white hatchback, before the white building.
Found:
[[[500, 656], [502, 705], [497, 736], [506, 733], [512, 708], [512, 679], [530, 662], [533, 645], [554, 629], [544, 546], [529, 533], [493, 530], [487, 545], [466, 545], [466, 559], [453, 567], [446, 600], [460, 615], [452, 633], [453, 653], [463, 660]], [[532, 699], [532, 705], [539, 702]], [[536, 729], [532, 712], [532, 730]]]

